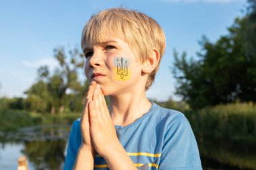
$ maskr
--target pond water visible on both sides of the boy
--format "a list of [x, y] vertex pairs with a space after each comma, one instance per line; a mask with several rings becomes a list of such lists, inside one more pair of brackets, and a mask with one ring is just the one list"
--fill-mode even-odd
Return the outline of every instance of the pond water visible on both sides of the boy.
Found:
[[[63, 169], [70, 128], [57, 124], [0, 132], [0, 170], [17, 169], [22, 155], [30, 170]], [[204, 170], [256, 169], [255, 144], [209, 139], [198, 140]]]

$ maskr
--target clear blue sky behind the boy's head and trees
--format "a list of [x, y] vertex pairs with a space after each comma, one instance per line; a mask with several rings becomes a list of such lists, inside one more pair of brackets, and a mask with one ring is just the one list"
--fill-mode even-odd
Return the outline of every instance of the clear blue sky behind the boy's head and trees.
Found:
[[51, 71], [58, 66], [54, 48], [79, 48], [82, 28], [91, 15], [125, 7], [153, 17], [166, 34], [166, 52], [147, 97], [181, 100], [170, 69], [173, 50], [196, 58], [202, 36], [216, 42], [228, 34], [227, 28], [243, 16], [246, 6], [246, 0], [0, 0], [0, 97], [24, 97], [40, 66], [49, 65]]

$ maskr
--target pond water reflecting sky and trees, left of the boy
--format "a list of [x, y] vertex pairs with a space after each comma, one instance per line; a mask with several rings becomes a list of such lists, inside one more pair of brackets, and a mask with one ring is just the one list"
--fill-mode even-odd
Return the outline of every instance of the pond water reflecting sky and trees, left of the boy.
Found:
[[22, 128], [0, 134], [0, 169], [18, 167], [18, 158], [28, 158], [30, 170], [62, 169], [65, 161], [69, 125], [47, 125]]

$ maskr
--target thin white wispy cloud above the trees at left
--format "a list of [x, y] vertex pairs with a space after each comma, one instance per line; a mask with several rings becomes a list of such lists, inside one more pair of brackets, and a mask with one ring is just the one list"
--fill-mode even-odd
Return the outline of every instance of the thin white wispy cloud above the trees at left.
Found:
[[38, 69], [40, 66], [47, 65], [49, 66], [49, 69], [53, 70], [55, 67], [57, 67], [58, 62], [53, 57], [44, 57], [44, 58], [38, 58], [37, 60], [23, 60], [22, 64], [26, 67]]

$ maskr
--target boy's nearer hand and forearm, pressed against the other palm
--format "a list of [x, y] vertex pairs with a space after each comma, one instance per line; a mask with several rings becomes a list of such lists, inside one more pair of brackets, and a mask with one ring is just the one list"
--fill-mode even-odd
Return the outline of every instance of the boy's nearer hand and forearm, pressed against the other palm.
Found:
[[117, 138], [115, 125], [110, 117], [104, 95], [96, 85], [92, 101], [89, 103], [90, 134], [94, 147], [104, 157], [111, 170], [136, 169], [125, 148]]

